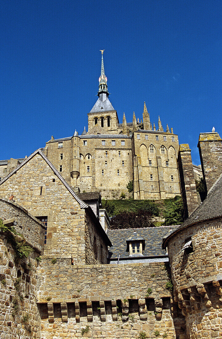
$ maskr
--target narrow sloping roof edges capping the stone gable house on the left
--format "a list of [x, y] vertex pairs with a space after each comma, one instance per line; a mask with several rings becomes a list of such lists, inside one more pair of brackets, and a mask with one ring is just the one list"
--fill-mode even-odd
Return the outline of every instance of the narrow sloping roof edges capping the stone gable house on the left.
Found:
[[10, 178], [14, 173], [16, 173], [23, 165], [26, 164], [26, 162], [28, 162], [30, 159], [32, 159], [36, 154], [40, 154], [42, 156], [42, 158], [47, 162], [47, 164], [49, 165], [49, 167], [53, 170], [53, 172], [57, 175], [57, 177], [62, 181], [62, 183], [64, 184], [64, 186], [67, 188], [67, 190], [72, 194], [72, 196], [76, 199], [76, 201], [78, 201], [78, 203], [80, 204], [81, 208], [87, 208], [88, 205], [86, 203], [84, 203], [77, 195], [76, 193], [72, 190], [72, 188], [67, 184], [67, 182], [63, 179], [63, 177], [59, 174], [59, 172], [57, 171], [57, 169], [53, 166], [53, 164], [48, 160], [48, 158], [46, 158], [46, 156], [44, 155], [44, 153], [41, 151], [41, 149], [37, 149], [35, 152], [33, 152], [31, 155], [29, 155], [28, 158], [26, 158], [20, 165], [18, 165], [10, 174], [8, 174], [4, 179], [2, 179], [2, 181], [0, 181], [0, 185], [3, 184], [3, 182], [5, 182], [8, 178]]

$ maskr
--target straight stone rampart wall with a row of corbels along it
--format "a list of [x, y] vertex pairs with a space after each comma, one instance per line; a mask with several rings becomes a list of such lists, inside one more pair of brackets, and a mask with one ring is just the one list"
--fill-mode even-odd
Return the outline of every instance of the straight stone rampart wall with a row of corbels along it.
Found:
[[186, 338], [164, 263], [70, 266], [43, 259], [38, 273], [42, 336], [78, 338], [88, 326], [90, 338], [138, 338], [141, 331]]

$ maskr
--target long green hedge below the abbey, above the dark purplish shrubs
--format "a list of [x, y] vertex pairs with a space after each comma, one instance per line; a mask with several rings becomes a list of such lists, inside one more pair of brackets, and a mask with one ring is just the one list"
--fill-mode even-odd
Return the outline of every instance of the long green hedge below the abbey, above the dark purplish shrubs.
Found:
[[135, 212], [139, 210], [150, 212], [152, 216], [159, 216], [159, 208], [152, 200], [105, 200], [102, 199], [102, 208], [106, 209], [109, 217], [125, 213]]

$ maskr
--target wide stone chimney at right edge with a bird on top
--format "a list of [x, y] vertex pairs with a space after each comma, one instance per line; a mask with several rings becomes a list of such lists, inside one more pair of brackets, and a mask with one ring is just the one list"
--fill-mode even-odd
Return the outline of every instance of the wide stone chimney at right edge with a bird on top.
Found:
[[222, 139], [217, 132], [200, 133], [198, 148], [207, 192], [222, 173]]

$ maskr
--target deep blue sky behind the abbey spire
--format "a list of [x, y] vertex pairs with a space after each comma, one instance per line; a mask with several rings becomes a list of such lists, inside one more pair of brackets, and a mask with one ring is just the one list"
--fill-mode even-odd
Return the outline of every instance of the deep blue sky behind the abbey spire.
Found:
[[199, 133], [222, 137], [222, 1], [2, 0], [0, 26], [0, 159], [87, 129], [100, 49], [120, 122], [145, 101], [197, 165]]

